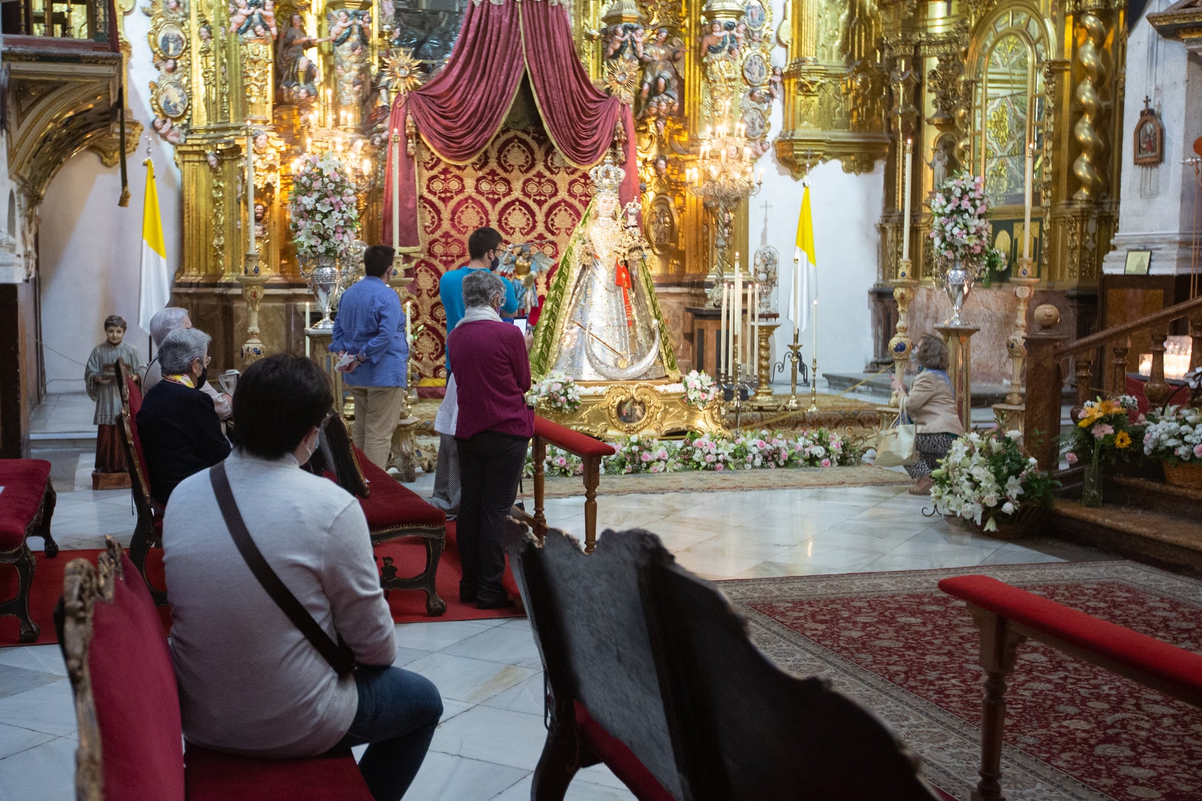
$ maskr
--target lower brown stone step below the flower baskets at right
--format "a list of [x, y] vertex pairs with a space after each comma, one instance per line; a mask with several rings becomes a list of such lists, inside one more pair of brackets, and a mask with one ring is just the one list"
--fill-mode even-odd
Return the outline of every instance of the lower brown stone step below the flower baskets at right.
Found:
[[1130, 506], [1085, 507], [1057, 498], [1043, 533], [1202, 578], [1202, 522]]

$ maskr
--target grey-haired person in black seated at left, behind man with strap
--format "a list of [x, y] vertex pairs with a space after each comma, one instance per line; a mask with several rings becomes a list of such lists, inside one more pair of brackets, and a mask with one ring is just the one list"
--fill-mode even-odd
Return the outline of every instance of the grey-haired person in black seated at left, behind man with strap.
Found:
[[212, 337], [196, 328], [177, 328], [159, 347], [162, 381], [147, 391], [138, 412], [150, 495], [167, 503], [182, 480], [230, 455], [213, 399], [201, 391]]

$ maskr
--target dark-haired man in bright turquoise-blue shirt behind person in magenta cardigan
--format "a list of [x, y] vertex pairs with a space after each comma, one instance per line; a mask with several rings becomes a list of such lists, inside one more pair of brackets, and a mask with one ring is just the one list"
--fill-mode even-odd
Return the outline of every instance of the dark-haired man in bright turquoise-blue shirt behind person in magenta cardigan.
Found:
[[[447, 316], [447, 336], [463, 319], [463, 276], [471, 270], [493, 270], [501, 263], [502, 238], [495, 228], [476, 228], [468, 237], [466, 265], [457, 270], [447, 270], [439, 281], [439, 298]], [[505, 285], [505, 303], [501, 305], [501, 318], [507, 319], [518, 310], [518, 297], [513, 282], [501, 280]], [[439, 464], [434, 470], [434, 496], [430, 503], [454, 516], [459, 512], [459, 452], [454, 442], [454, 419], [457, 408], [457, 388], [451, 376], [451, 353], [447, 352], [447, 394], [439, 407], [434, 420], [434, 430], [439, 435]]]

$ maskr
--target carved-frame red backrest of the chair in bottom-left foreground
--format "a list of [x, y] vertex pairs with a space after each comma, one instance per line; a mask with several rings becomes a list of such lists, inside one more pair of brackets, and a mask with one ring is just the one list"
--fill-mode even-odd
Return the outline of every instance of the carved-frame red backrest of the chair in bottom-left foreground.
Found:
[[75, 694], [81, 801], [184, 801], [179, 697], [145, 584], [112, 537], [96, 567], [72, 560], [55, 612]]

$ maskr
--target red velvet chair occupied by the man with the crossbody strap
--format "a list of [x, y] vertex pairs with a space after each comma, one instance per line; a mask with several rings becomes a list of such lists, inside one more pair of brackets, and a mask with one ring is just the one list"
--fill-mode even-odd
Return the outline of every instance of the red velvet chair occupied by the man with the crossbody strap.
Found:
[[182, 747], [179, 695], [159, 615], [108, 538], [63, 580], [63, 646], [79, 724], [76, 797], [89, 801], [371, 801], [350, 751], [261, 760]]

